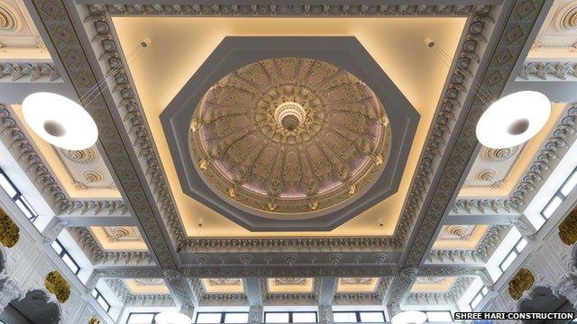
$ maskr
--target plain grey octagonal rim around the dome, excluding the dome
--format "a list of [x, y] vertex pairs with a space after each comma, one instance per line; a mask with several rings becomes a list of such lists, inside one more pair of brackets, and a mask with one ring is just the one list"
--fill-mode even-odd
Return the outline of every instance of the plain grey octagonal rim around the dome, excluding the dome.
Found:
[[[238, 208], [215, 193], [197, 173], [189, 153], [190, 121], [206, 91], [232, 71], [270, 58], [313, 58], [341, 67], [357, 76], [387, 107], [391, 143], [387, 165], [372, 187], [339, 210], [335, 205], [314, 218], [271, 219]], [[192, 109], [191, 109], [192, 107]], [[182, 86], [160, 121], [169, 142], [181, 189], [206, 207], [252, 231], [324, 231], [339, 226], [396, 193], [406, 165], [419, 114], [370, 53], [352, 36], [334, 37], [225, 37]]]

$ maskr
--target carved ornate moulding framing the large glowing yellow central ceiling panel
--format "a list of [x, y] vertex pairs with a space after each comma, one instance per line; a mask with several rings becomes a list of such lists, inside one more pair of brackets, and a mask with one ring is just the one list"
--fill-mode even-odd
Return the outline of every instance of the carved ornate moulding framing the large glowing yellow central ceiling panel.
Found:
[[[278, 10], [281, 6], [270, 5], [236, 5], [238, 10], [234, 10], [235, 5], [141, 5], [141, 4], [114, 4], [101, 5], [91, 4], [87, 6], [89, 15], [86, 21], [93, 23], [96, 36], [92, 38], [93, 43], [97, 48], [97, 52], [104, 52], [102, 57], [106, 59], [107, 71], [113, 70], [116, 67], [122, 67], [124, 62], [124, 55], [121, 53], [120, 46], [114, 35], [114, 27], [110, 22], [111, 15], [130, 14], [130, 15], [154, 15], [154, 14], [183, 14], [183, 15], [238, 15], [239, 10], [243, 12], [243, 8], [256, 8], [255, 12], [249, 10], [252, 15], [270, 15], [270, 13]], [[310, 10], [302, 10], [302, 8], [309, 7]], [[483, 27], [485, 21], [490, 21], [490, 6], [472, 6], [472, 5], [367, 5], [367, 10], [356, 10], [364, 6], [347, 6], [347, 5], [325, 5], [329, 12], [337, 10], [337, 13], [357, 13], [362, 15], [380, 15], [380, 16], [398, 16], [398, 15], [456, 15], [468, 16], [470, 19], [466, 26], [465, 40], [461, 45], [461, 49], [455, 55], [456, 65], [460, 67], [459, 71], [455, 71], [454, 67], [448, 74], [448, 85], [444, 87], [443, 97], [439, 101], [439, 108], [435, 112], [435, 124], [431, 126], [424, 153], [418, 164], [417, 171], [414, 175], [411, 192], [408, 194], [408, 199], [402, 211], [401, 219], [399, 220], [398, 229], [396, 229], [396, 238], [380, 238], [373, 240], [372, 244], [377, 244], [380, 248], [385, 247], [402, 247], [408, 239], [413, 223], [417, 218], [417, 211], [420, 209], [420, 204], [423, 202], [423, 197], [428, 191], [431, 184], [431, 175], [435, 167], [439, 165], [444, 149], [446, 148], [445, 138], [453, 130], [454, 121], [457, 111], [461, 109], [461, 102], [458, 98], [462, 97], [468, 90], [469, 83], [466, 78], [469, 75], [474, 76], [475, 67], [472, 62], [479, 60], [482, 56], [481, 46], [477, 46], [478, 42], [487, 41], [483, 35]], [[380, 8], [382, 10], [374, 11], [371, 8]], [[195, 9], [197, 8], [197, 10]], [[226, 9], [229, 8], [229, 9]], [[261, 9], [259, 9], [261, 8]], [[289, 6], [294, 10], [291, 15], [325, 15], [324, 10], [316, 10], [314, 8], [323, 8], [323, 6], [314, 5], [293, 5]], [[301, 8], [301, 9], [298, 9]], [[272, 11], [271, 11], [272, 10]], [[374, 13], [374, 14], [367, 14]], [[473, 70], [473, 71], [471, 71]], [[104, 71], [107, 72], [107, 71]], [[180, 250], [188, 247], [217, 247], [220, 244], [228, 244], [230, 241], [218, 238], [186, 238], [180, 226], [178, 210], [173, 202], [172, 195], [169, 190], [169, 185], [166, 182], [166, 177], [163, 175], [158, 153], [151, 139], [150, 130], [145, 121], [142, 105], [139, 102], [136, 91], [133, 90], [133, 82], [130, 76], [130, 71], [119, 68], [119, 72], [114, 76], [114, 91], [121, 94], [121, 99], [118, 100], [117, 105], [121, 109], [121, 114], [124, 117], [125, 127], [131, 132], [137, 132], [137, 136], [133, 136], [134, 148], [139, 152], [139, 155], [145, 156], [142, 162], [142, 169], [145, 171], [147, 180], [152, 187], [156, 188], [155, 198], [157, 202], [161, 202], [160, 214], [164, 220], [167, 229], [169, 229], [170, 238], [175, 247]], [[308, 245], [308, 243], [322, 242], [322, 245], [330, 245], [332, 238], [317, 238], [316, 240], [298, 240], [298, 244], [303, 249], [311, 250], [316, 248], [315, 245]], [[345, 242], [349, 245], [360, 245], [365, 238], [346, 238], [350, 239]], [[261, 243], [271, 243], [272, 245], [281, 244], [282, 240], [275, 241], [260, 240], [252, 238], [239, 239], [243, 241], [242, 246], [262, 246]], [[226, 248], [226, 247], [223, 247]]]

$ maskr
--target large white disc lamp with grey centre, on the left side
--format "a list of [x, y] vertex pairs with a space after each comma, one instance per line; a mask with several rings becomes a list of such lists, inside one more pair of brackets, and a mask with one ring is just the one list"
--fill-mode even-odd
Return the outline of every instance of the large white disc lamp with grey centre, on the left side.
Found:
[[60, 94], [30, 94], [22, 103], [22, 112], [30, 128], [56, 147], [85, 149], [98, 139], [98, 129], [90, 114]]

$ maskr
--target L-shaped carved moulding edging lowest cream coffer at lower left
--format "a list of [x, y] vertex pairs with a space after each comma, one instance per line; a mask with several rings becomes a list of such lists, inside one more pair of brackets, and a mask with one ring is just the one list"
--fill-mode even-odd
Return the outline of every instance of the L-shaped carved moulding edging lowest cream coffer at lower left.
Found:
[[121, 279], [107, 279], [106, 284], [114, 292], [119, 300], [124, 302], [124, 307], [173, 307], [175, 302], [167, 293], [132, 293]]

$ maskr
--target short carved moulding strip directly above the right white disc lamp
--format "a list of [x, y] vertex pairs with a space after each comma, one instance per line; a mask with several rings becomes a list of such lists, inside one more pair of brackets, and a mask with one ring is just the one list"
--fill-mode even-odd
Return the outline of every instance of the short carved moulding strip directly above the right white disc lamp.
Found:
[[577, 81], [577, 62], [525, 62], [517, 76], [521, 80]]

